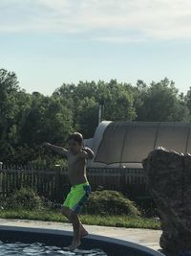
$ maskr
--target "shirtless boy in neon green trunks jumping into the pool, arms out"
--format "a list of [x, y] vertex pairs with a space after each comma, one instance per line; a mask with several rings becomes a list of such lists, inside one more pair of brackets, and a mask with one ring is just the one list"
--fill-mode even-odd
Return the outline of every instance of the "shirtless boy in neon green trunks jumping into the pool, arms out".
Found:
[[80, 244], [81, 238], [88, 235], [87, 230], [79, 221], [78, 214], [91, 192], [91, 186], [86, 176], [86, 161], [93, 159], [95, 154], [91, 149], [83, 147], [83, 136], [78, 132], [71, 134], [67, 142], [68, 150], [50, 143], [44, 143], [44, 146], [68, 159], [68, 175], [72, 187], [62, 205], [61, 212], [73, 224], [74, 239], [68, 248], [74, 250]]

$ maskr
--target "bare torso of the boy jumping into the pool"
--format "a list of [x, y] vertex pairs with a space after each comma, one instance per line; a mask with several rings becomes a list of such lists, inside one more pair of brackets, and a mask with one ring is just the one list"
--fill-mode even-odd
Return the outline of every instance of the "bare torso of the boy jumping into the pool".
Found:
[[80, 153], [74, 154], [71, 151], [67, 153], [68, 175], [72, 186], [87, 182], [86, 176], [86, 158], [80, 157]]

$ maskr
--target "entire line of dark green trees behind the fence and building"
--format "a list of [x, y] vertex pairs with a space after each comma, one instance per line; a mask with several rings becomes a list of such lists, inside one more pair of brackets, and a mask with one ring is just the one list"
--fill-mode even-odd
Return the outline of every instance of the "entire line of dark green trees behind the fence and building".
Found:
[[50, 157], [41, 147], [49, 141], [64, 146], [77, 130], [93, 137], [98, 107], [110, 121], [190, 122], [191, 87], [179, 93], [174, 81], [164, 78], [146, 84], [106, 81], [63, 83], [51, 96], [27, 93], [16, 74], [0, 69], [0, 161], [15, 165], [54, 165], [65, 162]]

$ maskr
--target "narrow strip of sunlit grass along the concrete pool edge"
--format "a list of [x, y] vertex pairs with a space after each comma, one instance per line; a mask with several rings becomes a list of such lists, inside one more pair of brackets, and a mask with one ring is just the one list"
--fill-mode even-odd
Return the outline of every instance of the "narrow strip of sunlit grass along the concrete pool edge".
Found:
[[[3, 219], [20, 219], [35, 221], [57, 221], [68, 222], [67, 219], [57, 210], [0, 210], [0, 218]], [[160, 222], [156, 219], [133, 218], [128, 216], [98, 216], [98, 215], [81, 215], [80, 220], [84, 224], [117, 226], [126, 228], [148, 228], [160, 229]]]

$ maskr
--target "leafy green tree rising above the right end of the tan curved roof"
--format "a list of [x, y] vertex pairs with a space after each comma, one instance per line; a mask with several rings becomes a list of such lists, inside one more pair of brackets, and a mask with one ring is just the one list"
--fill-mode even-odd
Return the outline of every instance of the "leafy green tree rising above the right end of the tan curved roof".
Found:
[[135, 90], [138, 121], [186, 122], [188, 109], [173, 81], [138, 82]]

